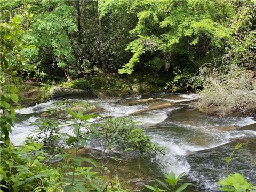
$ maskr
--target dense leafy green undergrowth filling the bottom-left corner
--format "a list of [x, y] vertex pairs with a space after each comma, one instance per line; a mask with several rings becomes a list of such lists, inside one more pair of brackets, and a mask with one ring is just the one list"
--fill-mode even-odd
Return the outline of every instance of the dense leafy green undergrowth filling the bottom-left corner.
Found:
[[[25, 147], [0, 148], [1, 189], [8, 191], [60, 191], [62, 172], [67, 166], [59, 164], [53, 168], [41, 150], [39, 143], [30, 143]], [[64, 161], [65, 162], [65, 161]], [[2, 191], [2, 190], [0, 190]]]

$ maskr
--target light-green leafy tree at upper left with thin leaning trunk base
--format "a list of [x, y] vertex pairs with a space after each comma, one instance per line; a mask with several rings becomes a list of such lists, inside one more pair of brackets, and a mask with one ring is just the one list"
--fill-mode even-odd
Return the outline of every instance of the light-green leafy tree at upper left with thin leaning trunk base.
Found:
[[[40, 50], [40, 59], [52, 69], [63, 69], [70, 80], [68, 68], [75, 63], [69, 35], [77, 31], [75, 9], [61, 0], [31, 1], [29, 11], [34, 14], [27, 38]], [[49, 66], [48, 66], [49, 67]]]

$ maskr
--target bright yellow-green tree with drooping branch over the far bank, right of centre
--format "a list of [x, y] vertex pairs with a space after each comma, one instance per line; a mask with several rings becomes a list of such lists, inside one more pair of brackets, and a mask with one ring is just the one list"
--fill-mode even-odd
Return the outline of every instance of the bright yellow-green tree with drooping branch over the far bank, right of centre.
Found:
[[137, 38], [127, 50], [133, 53], [119, 73], [131, 74], [144, 55], [164, 58], [166, 67], [211, 60], [232, 39], [227, 26], [234, 10], [229, 1], [135, 0], [131, 11], [138, 22], [131, 30]]

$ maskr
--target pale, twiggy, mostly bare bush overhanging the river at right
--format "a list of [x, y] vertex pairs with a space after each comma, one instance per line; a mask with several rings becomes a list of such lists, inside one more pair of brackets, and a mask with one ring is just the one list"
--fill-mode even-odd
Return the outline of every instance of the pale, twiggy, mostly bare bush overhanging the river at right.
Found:
[[213, 69], [203, 67], [199, 78], [204, 86], [199, 93], [199, 110], [218, 116], [237, 111], [244, 115], [255, 115], [256, 81], [252, 71], [237, 65]]

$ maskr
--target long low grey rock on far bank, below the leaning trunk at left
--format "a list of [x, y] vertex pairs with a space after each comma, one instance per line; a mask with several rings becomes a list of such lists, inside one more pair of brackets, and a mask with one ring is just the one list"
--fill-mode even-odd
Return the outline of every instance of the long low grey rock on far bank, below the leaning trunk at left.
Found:
[[82, 90], [82, 89], [73, 89], [73, 88], [62, 88], [62, 87], [52, 87], [50, 90], [50, 97], [63, 97], [66, 95], [82, 95], [90, 93], [89, 90]]

